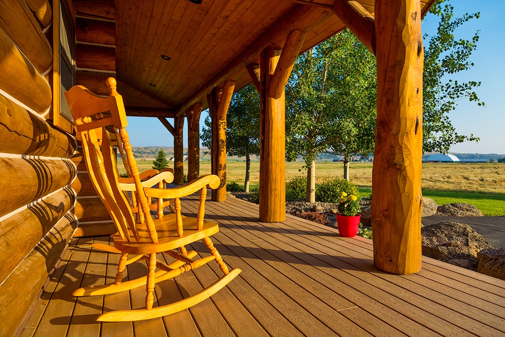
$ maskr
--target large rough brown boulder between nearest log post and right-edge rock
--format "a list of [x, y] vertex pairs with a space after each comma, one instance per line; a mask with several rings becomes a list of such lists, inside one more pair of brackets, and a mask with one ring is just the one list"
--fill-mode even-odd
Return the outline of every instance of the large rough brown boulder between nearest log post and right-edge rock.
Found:
[[423, 255], [442, 261], [451, 261], [459, 266], [477, 267], [477, 253], [492, 246], [474, 229], [465, 223], [440, 222], [421, 228]]

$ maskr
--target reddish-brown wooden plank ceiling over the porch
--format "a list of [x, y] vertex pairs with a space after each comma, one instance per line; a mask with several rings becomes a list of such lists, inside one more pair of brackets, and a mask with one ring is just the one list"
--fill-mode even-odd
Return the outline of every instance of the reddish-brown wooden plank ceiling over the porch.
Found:
[[[433, 1], [422, 1], [423, 15]], [[116, 76], [183, 113], [226, 79], [235, 90], [248, 84], [245, 66], [259, 63], [268, 44], [281, 49], [294, 29], [308, 31], [305, 52], [345, 28], [333, 0], [317, 2], [115, 0]], [[374, 13], [374, 0], [359, 3]]]

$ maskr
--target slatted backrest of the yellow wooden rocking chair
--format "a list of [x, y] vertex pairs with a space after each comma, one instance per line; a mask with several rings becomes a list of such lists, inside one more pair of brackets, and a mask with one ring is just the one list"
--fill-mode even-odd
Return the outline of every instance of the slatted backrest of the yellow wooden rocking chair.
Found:
[[[83, 148], [84, 148], [84, 139], [86, 138], [86, 135], [88, 136], [87, 139], [87, 146], [89, 150], [89, 157], [90, 158], [100, 158], [100, 156], [105, 155], [107, 158], [110, 158], [111, 156], [110, 151], [112, 151], [111, 143], [112, 140], [109, 137], [107, 139], [108, 143], [107, 145], [103, 146], [104, 148], [104, 154], [99, 153], [99, 147], [98, 147], [98, 140], [96, 139], [96, 134], [95, 130], [99, 128], [104, 128], [103, 129], [103, 139], [102, 142], [107, 138], [107, 129], [111, 130], [112, 127], [116, 128], [119, 133], [119, 139], [121, 139], [122, 145], [123, 145], [123, 150], [125, 152], [125, 157], [126, 161], [128, 164], [128, 167], [130, 169], [131, 176], [133, 177], [135, 181], [135, 187], [136, 187], [136, 192], [137, 192], [137, 197], [138, 197], [138, 202], [139, 202], [139, 211], [141, 210], [144, 214], [145, 217], [145, 222], [146, 222], [146, 227], [147, 231], [149, 233], [149, 237], [153, 243], [158, 242], [158, 233], [156, 232], [156, 228], [153, 222], [153, 218], [151, 217], [150, 214], [150, 209], [149, 205], [147, 203], [147, 197], [145, 196], [145, 192], [142, 186], [142, 183], [140, 181], [139, 177], [139, 171], [137, 167], [137, 162], [135, 161], [135, 157], [133, 156], [133, 153], [131, 151], [131, 145], [130, 145], [130, 140], [128, 137], [128, 132], [126, 131], [126, 126], [128, 125], [127, 119], [126, 119], [126, 112], [124, 109], [124, 104], [123, 104], [123, 98], [121, 95], [116, 91], [116, 80], [112, 77], [109, 77], [107, 79], [107, 85], [109, 86], [110, 90], [110, 95], [107, 98], [99, 97], [86, 89], [85, 87], [81, 85], [76, 85], [73, 86], [69, 91], [65, 92], [65, 97], [67, 98], [68, 105], [70, 107], [70, 111], [72, 112], [72, 116], [74, 117], [75, 123], [76, 123], [76, 129], [78, 132], [81, 133], [83, 136]], [[94, 135], [94, 138], [93, 138]], [[94, 142], [96, 139], [96, 142]], [[119, 140], [118, 140], [119, 143]], [[90, 146], [92, 144], [93, 146]], [[118, 144], [119, 145], [119, 144]], [[87, 156], [87, 155], [86, 155]], [[103, 161], [102, 157], [102, 161]], [[106, 160], [106, 162], [110, 163], [110, 160]], [[130, 224], [130, 216], [131, 214], [131, 209], [128, 206], [128, 211], [125, 209], [124, 205], [118, 206], [119, 204], [122, 204], [123, 198], [119, 198], [116, 191], [113, 190], [113, 187], [115, 184], [114, 181], [112, 181], [112, 178], [107, 178], [107, 174], [105, 174], [105, 166], [104, 170], [102, 170], [102, 167], [100, 167], [99, 161], [94, 161], [90, 160], [89, 161], [90, 167], [88, 167], [88, 172], [90, 174], [90, 177], [92, 175], [91, 172], [95, 176], [100, 177], [102, 180], [100, 182], [100, 179], [96, 179], [93, 182], [96, 182], [98, 185], [98, 188], [102, 189], [102, 196], [106, 200], [104, 204], [107, 203], [109, 204], [116, 204], [116, 207], [112, 207], [110, 212], [115, 214], [116, 218], [122, 218], [119, 215], [116, 215], [117, 209], [120, 209], [120, 211], [123, 212], [124, 217], [126, 218], [128, 224]], [[103, 164], [103, 162], [102, 162]], [[107, 164], [107, 165], [113, 165], [113, 164]], [[109, 171], [109, 170], [108, 170]], [[111, 171], [109, 171], [110, 173]], [[117, 173], [117, 171], [116, 171]], [[116, 178], [117, 178], [117, 174]], [[107, 182], [105, 181], [107, 180]], [[111, 180], [111, 181], [109, 181]], [[100, 186], [100, 183], [103, 184], [103, 186]], [[111, 187], [111, 189], [108, 189]], [[95, 187], [96, 188], [96, 187]], [[105, 189], [105, 190], [104, 190]], [[98, 190], [97, 190], [98, 192]], [[100, 195], [100, 192], [98, 192]], [[121, 194], [122, 195], [122, 194]], [[111, 206], [111, 205], [109, 205]], [[111, 215], [112, 216], [112, 215]], [[114, 219], [114, 217], [113, 217]], [[117, 220], [117, 219], [116, 219]], [[118, 220], [118, 224], [116, 224], [116, 227], [122, 228], [123, 225], [121, 224], [121, 220]], [[135, 226], [134, 226], [134, 221], [133, 221], [133, 226], [130, 224], [130, 229], [132, 229], [133, 233], [135, 234]], [[124, 233], [124, 235], [127, 237], [128, 231]], [[136, 236], [136, 235], [135, 235]]]

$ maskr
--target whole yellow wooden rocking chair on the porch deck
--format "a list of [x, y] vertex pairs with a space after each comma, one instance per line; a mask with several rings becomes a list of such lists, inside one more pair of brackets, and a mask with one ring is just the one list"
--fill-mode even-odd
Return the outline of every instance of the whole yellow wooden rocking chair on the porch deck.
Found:
[[[121, 254], [121, 259], [114, 283], [101, 286], [85, 286], [74, 291], [73, 295], [114, 294], [145, 285], [147, 292], [145, 309], [107, 312], [99, 315], [96, 320], [117, 322], [162, 317], [204, 301], [228, 284], [241, 271], [237, 268], [231, 271], [228, 270], [209, 237], [219, 231], [218, 224], [204, 221], [207, 187], [217, 188], [220, 180], [215, 175], [206, 175], [176, 188], [150, 188], [156, 184], [163, 187], [163, 184], [172, 182], [172, 172], [166, 171], [142, 182], [131, 151], [126, 131], [126, 113], [122, 97], [116, 91], [116, 80], [112, 77], [108, 78], [107, 85], [111, 92], [108, 98], [100, 98], [83, 86], [72, 87], [65, 93], [65, 96], [74, 117], [77, 131], [82, 136], [88, 174], [118, 230], [113, 235], [115, 248], [107, 245], [101, 245], [98, 248]], [[96, 130], [98, 129], [102, 129], [103, 133], [101, 142], [96, 137]], [[120, 183], [117, 174], [116, 156], [113, 152], [113, 135], [116, 134], [116, 130], [119, 133], [134, 183]], [[200, 203], [197, 218], [181, 215], [179, 198], [193, 194], [198, 190]], [[137, 224], [135, 222], [125, 191], [136, 192], [139, 209], [145, 219], [142, 223]], [[158, 214], [159, 217], [154, 219], [151, 217], [147, 198], [174, 199], [175, 213], [164, 215], [161, 212], [161, 214]], [[192, 258], [197, 253], [186, 251], [185, 245], [197, 240], [203, 240], [210, 250], [211, 255], [209, 257], [193, 260]], [[179, 249], [180, 252], [176, 249]], [[156, 254], [161, 252], [167, 253], [176, 261], [167, 265], [157, 260]], [[134, 254], [134, 256], [128, 259], [129, 254]], [[147, 275], [122, 282], [122, 273], [126, 265], [140, 259], [147, 261]], [[191, 297], [153, 308], [155, 283], [176, 277], [213, 260], [218, 263], [224, 276]], [[159, 270], [155, 271], [156, 268], [159, 268]]]

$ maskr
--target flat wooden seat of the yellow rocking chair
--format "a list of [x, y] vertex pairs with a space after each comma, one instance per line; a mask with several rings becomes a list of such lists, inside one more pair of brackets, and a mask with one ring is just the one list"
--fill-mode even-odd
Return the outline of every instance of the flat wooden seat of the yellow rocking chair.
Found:
[[[176, 214], [165, 215], [161, 219], [154, 219], [156, 231], [158, 232], [158, 243], [153, 244], [149, 238], [145, 223], [137, 225], [139, 242], [128, 242], [126, 239], [121, 239], [119, 234], [113, 235], [114, 246], [123, 254], [150, 254], [157, 252], [166, 252], [176, 249], [203, 239], [204, 237], [216, 234], [219, 231], [217, 223], [204, 221], [201, 230], [197, 230], [197, 218], [186, 217], [182, 215], [184, 222], [184, 232], [182, 236], [177, 234]], [[133, 233], [130, 231], [130, 236]]]

